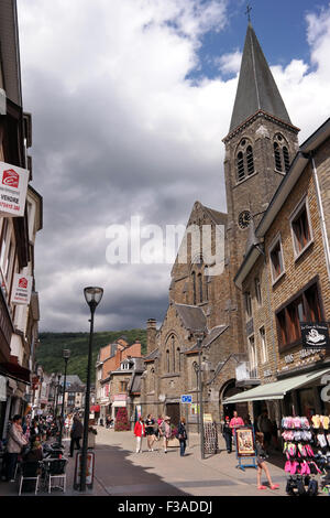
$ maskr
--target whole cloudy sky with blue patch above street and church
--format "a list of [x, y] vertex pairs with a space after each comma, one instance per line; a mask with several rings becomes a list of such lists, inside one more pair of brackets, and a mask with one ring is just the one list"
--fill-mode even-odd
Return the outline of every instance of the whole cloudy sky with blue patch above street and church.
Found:
[[[241, 0], [18, 0], [33, 185], [44, 197], [42, 331], [97, 330], [166, 311], [170, 265], [109, 265], [110, 225], [226, 211], [223, 144], [246, 31]], [[254, 0], [252, 23], [304, 141], [330, 115], [329, 1]], [[107, 237], [108, 236], [108, 237]], [[143, 241], [142, 241], [143, 245]]]

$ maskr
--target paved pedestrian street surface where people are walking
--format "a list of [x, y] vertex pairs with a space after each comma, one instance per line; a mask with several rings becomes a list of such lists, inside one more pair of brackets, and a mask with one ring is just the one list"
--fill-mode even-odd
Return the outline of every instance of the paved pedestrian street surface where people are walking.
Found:
[[[156, 442], [154, 452], [147, 452], [143, 440], [143, 452], [135, 453], [132, 432], [114, 432], [98, 427], [96, 441], [96, 474], [89, 496], [284, 496], [286, 476], [282, 468], [268, 463], [273, 482], [278, 490], [258, 490], [256, 470], [238, 470], [235, 454], [228, 454], [224, 444], [221, 453], [207, 455], [201, 461], [198, 435], [190, 434], [187, 455], [179, 456], [178, 447], [169, 447], [165, 454], [162, 443]], [[68, 453], [69, 441], [65, 441]], [[75, 457], [67, 466], [67, 492], [65, 496], [81, 496], [73, 489]], [[265, 477], [263, 477], [265, 478]], [[264, 481], [266, 482], [266, 481]], [[18, 483], [0, 483], [0, 496], [18, 495]], [[47, 496], [47, 493], [38, 493]], [[32, 495], [33, 496], [33, 495]], [[63, 496], [52, 492], [52, 496]]]

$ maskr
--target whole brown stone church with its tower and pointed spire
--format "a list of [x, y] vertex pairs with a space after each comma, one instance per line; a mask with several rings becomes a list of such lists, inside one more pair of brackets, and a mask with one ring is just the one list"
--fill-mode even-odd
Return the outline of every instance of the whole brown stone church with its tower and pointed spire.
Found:
[[[143, 416], [167, 414], [174, 423], [185, 416], [189, 430], [195, 431], [200, 375], [204, 413], [216, 422], [234, 409], [243, 418], [255, 418], [252, 400], [238, 397], [257, 387], [261, 376], [246, 339], [253, 332], [253, 320], [246, 323], [250, 301], [235, 280], [252, 250], [263, 246], [255, 229], [290, 171], [299, 149], [298, 132], [249, 22], [229, 133], [222, 141], [227, 213], [201, 202], [194, 204], [184, 238], [187, 261], [177, 258], [173, 266], [166, 315], [160, 328], [155, 320], [147, 321]], [[223, 263], [218, 274], [210, 274], [213, 256], [206, 257], [204, 247], [202, 251], [196, 249], [190, 236], [191, 227], [201, 235], [205, 226], [211, 228], [211, 251], [217, 230], [223, 233]], [[240, 369], [248, 369], [243, 381]], [[270, 381], [276, 381], [276, 376]], [[193, 403], [183, 404], [182, 395], [190, 395]]]

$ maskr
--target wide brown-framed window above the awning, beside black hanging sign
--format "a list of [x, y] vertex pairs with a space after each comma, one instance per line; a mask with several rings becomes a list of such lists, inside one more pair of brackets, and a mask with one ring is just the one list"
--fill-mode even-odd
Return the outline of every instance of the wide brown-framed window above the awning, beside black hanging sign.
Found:
[[300, 322], [322, 321], [317, 283], [305, 289], [277, 314], [279, 347], [298, 345], [301, 339]]

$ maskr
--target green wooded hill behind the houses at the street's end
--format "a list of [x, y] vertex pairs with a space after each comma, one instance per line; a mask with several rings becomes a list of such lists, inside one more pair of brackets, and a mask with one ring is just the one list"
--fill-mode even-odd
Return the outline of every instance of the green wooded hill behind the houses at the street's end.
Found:
[[[142, 354], [146, 352], [146, 331], [107, 331], [94, 334], [92, 341], [92, 369], [91, 382], [95, 382], [95, 365], [100, 347], [114, 342], [124, 336], [129, 344], [133, 344], [135, 339], [140, 339]], [[67, 365], [67, 374], [76, 374], [81, 381], [87, 379], [87, 360], [88, 360], [88, 341], [89, 333], [40, 333], [40, 345], [36, 349], [36, 363], [41, 364], [47, 374], [64, 373], [64, 359], [62, 350], [69, 349], [72, 352], [70, 359]]]

